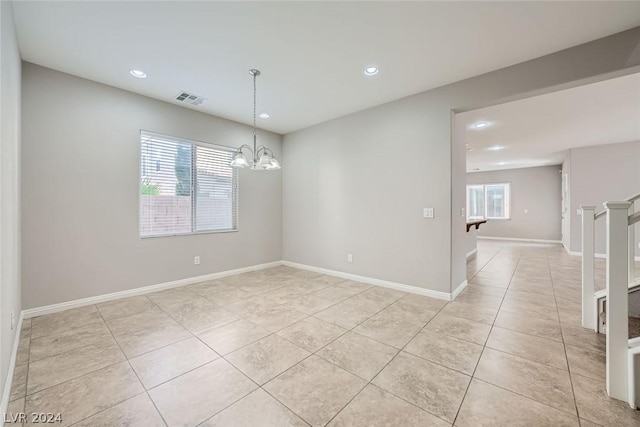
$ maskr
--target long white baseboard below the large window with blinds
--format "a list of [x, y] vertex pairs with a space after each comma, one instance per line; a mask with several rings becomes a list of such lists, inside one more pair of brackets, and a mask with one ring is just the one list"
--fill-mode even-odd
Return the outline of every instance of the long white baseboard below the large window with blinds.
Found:
[[282, 265], [282, 261], [269, 262], [266, 264], [252, 265], [249, 267], [236, 268], [234, 270], [220, 271], [218, 273], [205, 274], [203, 276], [188, 277], [186, 279], [174, 280], [172, 282], [158, 283], [157, 285], [144, 286], [142, 288], [129, 289], [126, 291], [112, 292], [109, 294], [97, 295], [89, 298], [82, 298], [59, 304], [46, 305], [43, 307], [30, 308], [22, 311], [25, 319], [31, 317], [42, 316], [43, 314], [57, 313], [59, 311], [68, 310], [70, 308], [84, 307], [101, 302], [112, 301], [115, 299], [132, 297], [136, 295], [148, 294], [164, 289], [177, 288], [180, 286], [191, 285], [193, 283], [204, 282], [207, 280], [220, 279], [222, 277], [233, 276], [235, 274], [246, 273], [249, 271], [262, 270], [270, 267]]

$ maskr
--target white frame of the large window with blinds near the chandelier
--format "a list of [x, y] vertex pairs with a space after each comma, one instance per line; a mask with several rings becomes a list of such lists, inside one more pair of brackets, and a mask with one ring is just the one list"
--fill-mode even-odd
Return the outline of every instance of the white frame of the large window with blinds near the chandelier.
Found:
[[[150, 137], [155, 137], [158, 139], [163, 139], [169, 142], [175, 142], [176, 144], [190, 144], [192, 147], [201, 146], [207, 149], [213, 150], [221, 150], [228, 151], [230, 153], [235, 153], [237, 148], [214, 144], [210, 142], [197, 141], [189, 138], [180, 138], [176, 136], [166, 135], [162, 133], [152, 132], [148, 130], [141, 129], [138, 137], [138, 237], [140, 239], [155, 239], [157, 237], [173, 237], [173, 236], [191, 236], [198, 234], [218, 234], [218, 233], [237, 233], [240, 231], [240, 174], [238, 173], [238, 168], [231, 168], [232, 170], [232, 197], [235, 196], [235, 200], [232, 198], [232, 204], [235, 202], [236, 216], [235, 221], [232, 218], [232, 222], [235, 222], [235, 227], [227, 230], [196, 230], [196, 202], [197, 195], [194, 194], [194, 188], [197, 187], [197, 154], [191, 156], [191, 231], [184, 233], [164, 233], [164, 234], [149, 234], [142, 235], [141, 234], [141, 222], [140, 222], [140, 209], [142, 207], [142, 194], [140, 193], [140, 188], [143, 184], [142, 178], [142, 142], [143, 136], [147, 135]], [[195, 150], [197, 153], [197, 148]], [[147, 165], [148, 166], [148, 165]]]

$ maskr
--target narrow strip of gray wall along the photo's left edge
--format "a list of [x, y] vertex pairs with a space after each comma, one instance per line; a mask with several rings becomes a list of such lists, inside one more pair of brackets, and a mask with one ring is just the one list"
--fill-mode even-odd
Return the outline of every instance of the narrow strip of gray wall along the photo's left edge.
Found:
[[[17, 328], [11, 328], [11, 312], [17, 322], [21, 310], [20, 68], [13, 10], [10, 2], [3, 1], [0, 2], [0, 386], [3, 388], [17, 332]], [[0, 413], [4, 413], [3, 409], [0, 408]]]

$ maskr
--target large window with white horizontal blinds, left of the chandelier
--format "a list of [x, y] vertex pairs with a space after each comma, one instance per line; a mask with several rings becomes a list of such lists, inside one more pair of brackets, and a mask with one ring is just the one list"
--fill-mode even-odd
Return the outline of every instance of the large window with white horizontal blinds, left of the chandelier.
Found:
[[234, 149], [140, 133], [140, 236], [238, 229]]

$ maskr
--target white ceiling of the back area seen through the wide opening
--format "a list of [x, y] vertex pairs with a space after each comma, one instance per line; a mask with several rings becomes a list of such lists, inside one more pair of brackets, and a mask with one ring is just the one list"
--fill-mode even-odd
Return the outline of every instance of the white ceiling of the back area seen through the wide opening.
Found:
[[[467, 172], [557, 165], [570, 148], [640, 141], [640, 73], [456, 118], [472, 149]], [[480, 122], [488, 126], [474, 128]], [[502, 149], [491, 150], [496, 147]]]

